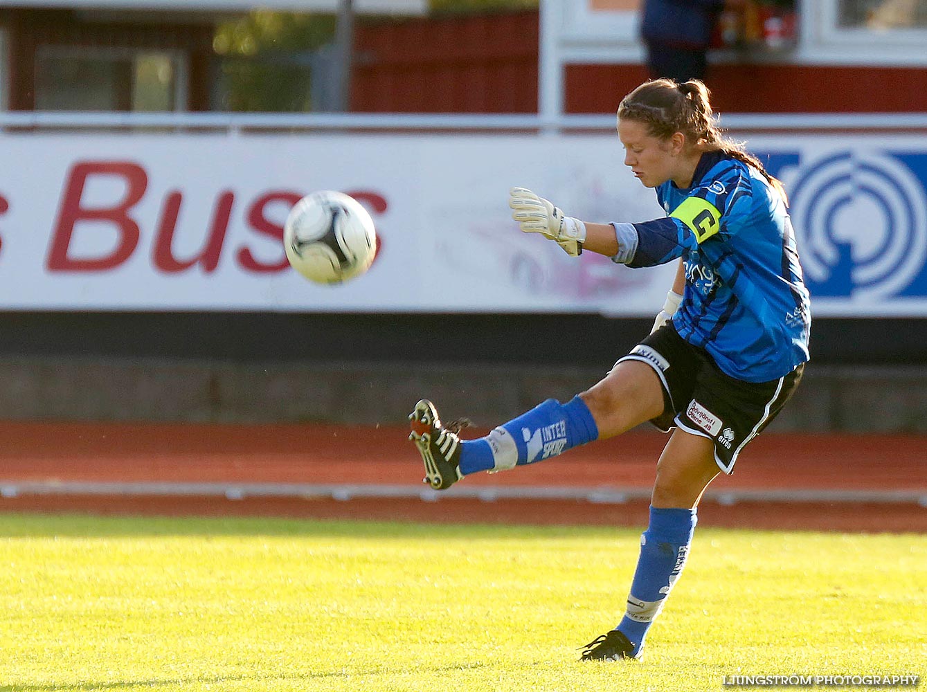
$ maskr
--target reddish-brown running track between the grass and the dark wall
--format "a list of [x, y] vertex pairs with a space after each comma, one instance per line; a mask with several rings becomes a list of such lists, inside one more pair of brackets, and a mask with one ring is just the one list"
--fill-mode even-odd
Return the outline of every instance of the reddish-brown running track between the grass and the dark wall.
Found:
[[[470, 433], [470, 431], [465, 431]], [[471, 433], [475, 436], [481, 431]], [[419, 484], [421, 463], [405, 428], [335, 425], [0, 422], [0, 484], [280, 483]], [[467, 487], [651, 486], [667, 437], [632, 432], [514, 472], [468, 477]], [[736, 472], [711, 490], [865, 491], [927, 497], [927, 437], [764, 434], [743, 451]], [[0, 497], [0, 510], [158, 514], [270, 514], [642, 525], [646, 501], [441, 498]], [[701, 525], [927, 532], [927, 508], [904, 502], [705, 501]]]

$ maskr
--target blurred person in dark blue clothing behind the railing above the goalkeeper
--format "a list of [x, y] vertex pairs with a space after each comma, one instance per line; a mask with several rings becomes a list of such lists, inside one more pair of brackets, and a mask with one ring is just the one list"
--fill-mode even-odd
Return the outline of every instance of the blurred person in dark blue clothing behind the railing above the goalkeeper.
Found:
[[705, 81], [708, 46], [717, 18], [724, 9], [737, 9], [744, 0], [644, 0], [641, 39], [647, 47], [647, 70], [652, 80]]

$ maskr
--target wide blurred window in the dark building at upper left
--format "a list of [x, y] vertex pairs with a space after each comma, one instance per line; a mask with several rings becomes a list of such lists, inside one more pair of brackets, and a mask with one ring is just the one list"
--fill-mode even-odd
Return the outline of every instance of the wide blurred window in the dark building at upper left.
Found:
[[180, 54], [120, 48], [41, 46], [35, 60], [36, 110], [180, 110]]

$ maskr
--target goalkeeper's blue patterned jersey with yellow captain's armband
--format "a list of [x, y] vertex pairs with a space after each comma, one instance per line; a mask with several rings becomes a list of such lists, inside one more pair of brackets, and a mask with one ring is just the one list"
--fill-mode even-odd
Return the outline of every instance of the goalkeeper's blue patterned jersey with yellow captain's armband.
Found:
[[638, 247], [628, 264], [683, 258], [679, 335], [746, 382], [775, 380], [805, 362], [810, 301], [785, 201], [766, 177], [711, 152], [692, 187], [667, 181], [656, 196], [667, 219], [633, 224]]

